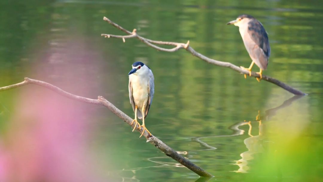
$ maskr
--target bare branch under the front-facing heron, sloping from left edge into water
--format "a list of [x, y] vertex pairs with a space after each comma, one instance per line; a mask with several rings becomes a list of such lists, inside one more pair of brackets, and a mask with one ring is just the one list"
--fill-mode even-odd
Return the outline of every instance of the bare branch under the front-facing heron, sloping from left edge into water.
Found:
[[[90, 103], [90, 104], [95, 104], [95, 105], [103, 105], [103, 106], [107, 107], [115, 115], [117, 115], [120, 119], [122, 119], [123, 121], [128, 123], [132, 128], [135, 126], [135, 123], [133, 123], [131, 125], [132, 119], [127, 114], [120, 111], [116, 106], [114, 106], [111, 102], [109, 102], [108, 100], [106, 100], [102, 96], [98, 96], [98, 99], [89, 99], [89, 98], [86, 98], [86, 97], [73, 95], [71, 93], [63, 91], [62, 89], [60, 89], [60, 88], [58, 88], [58, 87], [56, 87], [56, 86], [54, 86], [52, 84], [49, 84], [47, 82], [40, 81], [40, 80], [34, 80], [34, 79], [30, 79], [30, 78], [25, 78], [25, 81], [20, 82], [20, 83], [16, 83], [16, 84], [5, 86], [5, 87], [0, 87], [0, 91], [6, 91], [6, 90], [14, 89], [14, 88], [21, 87], [21, 86], [24, 86], [24, 85], [27, 85], [27, 84], [35, 84], [35, 85], [45, 87], [45, 88], [47, 88], [49, 90], [52, 90], [52, 91], [54, 91], [54, 92], [56, 92], [56, 93], [58, 93], [58, 94], [60, 94], [60, 95], [62, 95], [64, 97], [67, 97], [67, 98], [75, 100], [75, 101], [80, 101], [80, 102], [85, 102], [85, 103]], [[142, 133], [142, 131], [139, 129], [139, 127], [136, 128], [136, 130], [138, 132]], [[191, 161], [189, 161], [188, 159], [186, 159], [182, 155], [179, 155], [176, 151], [174, 151], [171, 147], [169, 147], [168, 145], [163, 143], [157, 137], [155, 137], [153, 135], [149, 135], [146, 130], [145, 130], [143, 136], [145, 136], [145, 138], [147, 139], [147, 142], [150, 142], [152, 145], [155, 145], [158, 149], [160, 149], [167, 156], [172, 157], [174, 160], [176, 160], [177, 162], [179, 162], [183, 166], [189, 168], [190, 170], [192, 170], [194, 173], [198, 174], [199, 176], [201, 176], [201, 177], [213, 177], [213, 175], [206, 172], [201, 167], [196, 166], [194, 163], [192, 163]]]

